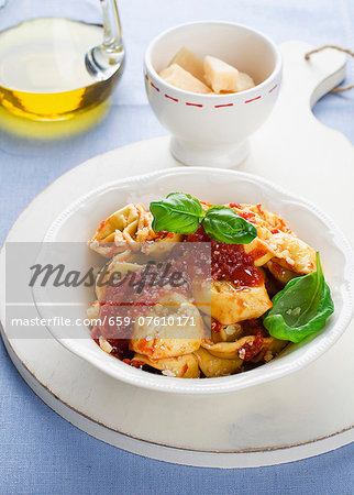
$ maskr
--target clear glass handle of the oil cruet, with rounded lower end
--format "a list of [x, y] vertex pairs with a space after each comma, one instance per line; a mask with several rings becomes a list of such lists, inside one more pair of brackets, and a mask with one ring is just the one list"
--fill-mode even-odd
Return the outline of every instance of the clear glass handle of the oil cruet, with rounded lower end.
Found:
[[103, 18], [103, 41], [93, 46], [85, 57], [87, 70], [95, 77], [106, 79], [124, 63], [122, 28], [117, 0], [100, 0]]

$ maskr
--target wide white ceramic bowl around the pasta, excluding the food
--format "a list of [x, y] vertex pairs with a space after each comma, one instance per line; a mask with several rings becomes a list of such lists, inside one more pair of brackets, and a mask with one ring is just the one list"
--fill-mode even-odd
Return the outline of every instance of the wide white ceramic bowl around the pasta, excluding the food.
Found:
[[[144, 202], [182, 190], [215, 202], [262, 202], [284, 216], [300, 239], [321, 252], [327, 280], [335, 305], [334, 315], [323, 330], [307, 343], [291, 344], [278, 359], [255, 370], [232, 376], [182, 380], [135, 370], [106, 354], [90, 338], [84, 324], [68, 338], [67, 328], [53, 326], [52, 334], [75, 354], [117, 380], [155, 391], [185, 394], [219, 394], [259, 385], [294, 373], [328, 351], [346, 329], [353, 314], [354, 262], [349, 241], [325, 213], [305, 199], [250, 174], [212, 168], [169, 168], [157, 173], [117, 180], [92, 190], [67, 208], [52, 224], [46, 242], [80, 242], [82, 266], [90, 266], [92, 252], [86, 241], [100, 221], [125, 204]], [[102, 264], [102, 258], [101, 258]], [[70, 317], [85, 318], [93, 300], [92, 287], [73, 294]], [[44, 315], [46, 316], [46, 315]], [[74, 332], [74, 330], [73, 330]]]

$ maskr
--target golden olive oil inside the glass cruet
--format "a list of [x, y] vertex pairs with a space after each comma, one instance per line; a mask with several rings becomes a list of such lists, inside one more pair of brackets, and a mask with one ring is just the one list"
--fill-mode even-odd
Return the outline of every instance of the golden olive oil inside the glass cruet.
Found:
[[30, 120], [65, 120], [102, 103], [121, 66], [92, 75], [85, 56], [103, 38], [97, 24], [34, 19], [0, 32], [0, 106]]

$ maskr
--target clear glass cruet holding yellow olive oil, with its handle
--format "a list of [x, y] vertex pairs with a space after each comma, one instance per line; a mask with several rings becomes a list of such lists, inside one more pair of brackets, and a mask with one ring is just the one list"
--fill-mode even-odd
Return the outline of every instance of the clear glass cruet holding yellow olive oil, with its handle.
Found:
[[115, 0], [0, 0], [0, 107], [67, 120], [106, 101], [124, 66]]

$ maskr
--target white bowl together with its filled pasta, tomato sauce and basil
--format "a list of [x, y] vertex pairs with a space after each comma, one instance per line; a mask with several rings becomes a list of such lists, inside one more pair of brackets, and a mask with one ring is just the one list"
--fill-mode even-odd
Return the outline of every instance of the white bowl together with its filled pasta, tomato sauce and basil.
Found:
[[[172, 219], [168, 201], [176, 200], [179, 206], [184, 201], [174, 196], [167, 202], [163, 200], [175, 191], [191, 195], [187, 196], [187, 204], [196, 201], [191, 216], [184, 210], [181, 218], [179, 208], [179, 217]], [[182, 208], [188, 209], [188, 205]], [[230, 230], [228, 218], [220, 215], [231, 215], [231, 223], [235, 217], [239, 227]], [[178, 232], [168, 233], [168, 226], [177, 226], [170, 230]], [[196, 238], [196, 230], [202, 239]], [[236, 237], [230, 240], [228, 235]], [[196, 279], [189, 280], [185, 292], [166, 284], [148, 302], [141, 295], [134, 296], [134, 318], [123, 314], [130, 318], [124, 326], [130, 333], [124, 333], [122, 320], [118, 322], [117, 318], [122, 318], [119, 311], [123, 302], [131, 302], [132, 295], [125, 290], [128, 299], [122, 302], [121, 286], [111, 287], [106, 282], [117, 271], [120, 277], [123, 272], [135, 272], [140, 277], [142, 267], [150, 264], [141, 246], [153, 246], [154, 258], [156, 249], [166, 252], [162, 246], [168, 246], [168, 242], [161, 242], [166, 240], [174, 241], [169, 243], [174, 246], [185, 246], [185, 241], [199, 245], [197, 242], [202, 241], [200, 245], [210, 250], [211, 272], [197, 277], [197, 284]], [[77, 272], [88, 273], [90, 267], [99, 266], [98, 276], [104, 280], [98, 284], [96, 279], [95, 287], [80, 284], [75, 290], [68, 289], [69, 304], [60, 306], [60, 316], [77, 323], [75, 328], [49, 324], [52, 334], [108, 375], [145, 388], [219, 394], [284, 377], [329, 350], [353, 315], [353, 252], [335, 222], [307, 200], [245, 173], [170, 168], [107, 184], [69, 206], [52, 224], [45, 243], [70, 243], [70, 249], [64, 251], [67, 260], [76, 256]], [[170, 248], [167, 251], [174, 252], [174, 262], [180, 256]], [[221, 255], [223, 263], [219, 257]], [[157, 258], [162, 260], [161, 254]], [[190, 257], [186, 266], [191, 266]], [[187, 272], [191, 276], [189, 268]], [[196, 289], [201, 278], [210, 282], [207, 302], [200, 297], [200, 285]], [[57, 297], [48, 294], [46, 290], [45, 297]], [[66, 296], [60, 296], [60, 302], [68, 301]], [[35, 300], [40, 297], [43, 292], [34, 287]], [[55, 302], [57, 311], [58, 300]], [[165, 306], [175, 308], [174, 322], [186, 315], [193, 318], [193, 328], [191, 323], [177, 330], [174, 327], [177, 334], [172, 334], [168, 327], [164, 333], [161, 318], [170, 315]], [[49, 315], [49, 307], [41, 306], [42, 316]], [[53, 307], [51, 311], [53, 316]], [[103, 316], [113, 321], [109, 330], [102, 323]], [[146, 330], [147, 317], [155, 323]], [[88, 328], [88, 323], [92, 327]]]

